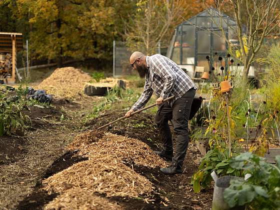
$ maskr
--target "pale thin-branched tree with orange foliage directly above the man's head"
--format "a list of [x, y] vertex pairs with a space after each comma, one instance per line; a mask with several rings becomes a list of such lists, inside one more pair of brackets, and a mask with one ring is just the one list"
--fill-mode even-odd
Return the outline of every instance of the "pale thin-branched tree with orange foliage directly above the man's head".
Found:
[[138, 0], [135, 15], [125, 21], [129, 48], [151, 54], [158, 43], [167, 46], [174, 27], [202, 6], [200, 0]]

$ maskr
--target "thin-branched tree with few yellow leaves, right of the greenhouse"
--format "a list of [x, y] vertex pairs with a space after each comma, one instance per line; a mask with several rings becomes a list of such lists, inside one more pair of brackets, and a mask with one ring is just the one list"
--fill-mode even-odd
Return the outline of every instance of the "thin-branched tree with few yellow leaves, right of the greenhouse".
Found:
[[[220, 12], [232, 12], [236, 27], [232, 27], [239, 42], [240, 58], [243, 62], [243, 78], [246, 78], [251, 64], [255, 61], [265, 37], [280, 34], [279, 0], [216, 0]], [[230, 8], [230, 9], [228, 9]], [[229, 14], [230, 15], [230, 14]], [[243, 30], [245, 26], [245, 30]], [[232, 43], [223, 36], [228, 46]]]

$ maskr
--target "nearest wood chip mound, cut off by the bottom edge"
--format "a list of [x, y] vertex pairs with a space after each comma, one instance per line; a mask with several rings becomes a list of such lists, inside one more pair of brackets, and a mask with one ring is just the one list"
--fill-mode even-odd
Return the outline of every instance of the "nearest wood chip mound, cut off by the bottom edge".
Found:
[[119, 205], [93, 194], [90, 189], [71, 188], [49, 202], [45, 209], [121, 209]]

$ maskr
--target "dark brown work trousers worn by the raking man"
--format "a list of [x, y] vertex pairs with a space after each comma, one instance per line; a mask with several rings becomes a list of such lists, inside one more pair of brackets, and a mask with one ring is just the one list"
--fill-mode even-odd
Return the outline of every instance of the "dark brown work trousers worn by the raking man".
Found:
[[173, 152], [173, 144], [168, 120], [172, 120], [176, 141], [176, 151], [172, 163], [182, 166], [188, 146], [188, 117], [190, 107], [195, 95], [195, 90], [188, 90], [181, 98], [174, 101], [172, 107], [168, 101], [158, 106], [155, 115], [155, 123], [162, 139], [163, 150], [166, 153]]

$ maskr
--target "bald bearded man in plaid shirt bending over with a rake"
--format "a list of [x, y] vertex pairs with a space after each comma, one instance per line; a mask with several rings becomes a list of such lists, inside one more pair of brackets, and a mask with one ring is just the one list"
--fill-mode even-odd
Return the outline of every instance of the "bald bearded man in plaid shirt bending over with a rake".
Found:
[[[182, 164], [188, 146], [187, 121], [196, 86], [175, 62], [161, 54], [147, 56], [135, 51], [131, 54], [129, 62], [139, 76], [145, 78], [145, 85], [141, 96], [125, 113], [125, 116], [129, 117], [133, 111], [144, 107], [152, 93], [155, 92], [157, 96], [155, 102], [158, 105], [155, 123], [162, 137], [163, 149], [154, 152], [171, 161], [168, 167], [160, 168], [163, 173], [182, 173]], [[162, 102], [163, 99], [172, 95], [174, 95], [172, 100]], [[172, 120], [174, 129], [175, 154], [173, 154], [168, 120]]]

